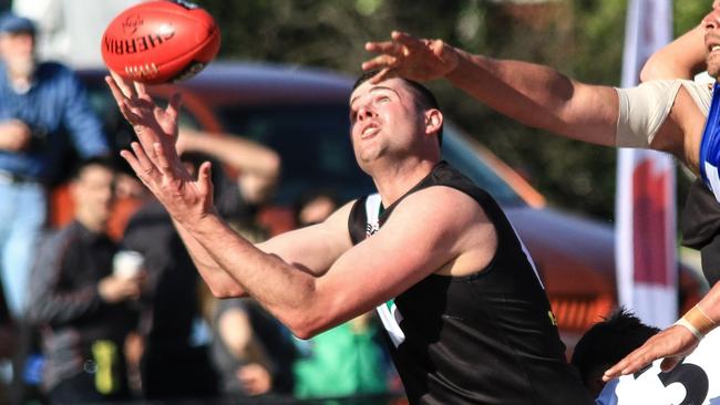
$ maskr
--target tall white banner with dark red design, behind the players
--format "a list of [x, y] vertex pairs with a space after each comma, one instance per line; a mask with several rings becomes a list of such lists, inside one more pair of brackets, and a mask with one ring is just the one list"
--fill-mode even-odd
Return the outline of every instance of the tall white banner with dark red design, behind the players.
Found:
[[[670, 0], [631, 0], [623, 87], [637, 85], [645, 61], [671, 40]], [[616, 197], [618, 299], [645, 323], [677, 319], [675, 164], [669, 155], [618, 149]]]

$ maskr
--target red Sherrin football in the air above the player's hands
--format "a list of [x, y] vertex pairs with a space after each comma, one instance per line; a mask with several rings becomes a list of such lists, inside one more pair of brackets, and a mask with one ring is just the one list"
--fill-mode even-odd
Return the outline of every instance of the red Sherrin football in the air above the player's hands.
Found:
[[213, 17], [183, 0], [147, 1], [126, 9], [107, 25], [101, 45], [110, 70], [148, 84], [194, 76], [219, 46]]

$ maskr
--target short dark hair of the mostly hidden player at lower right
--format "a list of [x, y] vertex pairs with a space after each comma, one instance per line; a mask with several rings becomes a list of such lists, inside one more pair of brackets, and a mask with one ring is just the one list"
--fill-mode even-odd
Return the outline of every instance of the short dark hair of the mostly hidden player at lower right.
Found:
[[583, 382], [619, 362], [640, 347], [659, 329], [642, 323], [632, 312], [620, 308], [609, 319], [593, 325], [575, 345], [570, 363]]

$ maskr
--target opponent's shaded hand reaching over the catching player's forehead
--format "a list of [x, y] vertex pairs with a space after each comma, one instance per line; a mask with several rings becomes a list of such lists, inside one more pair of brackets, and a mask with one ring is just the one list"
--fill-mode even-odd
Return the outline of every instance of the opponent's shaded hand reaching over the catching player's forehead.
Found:
[[454, 48], [442, 40], [418, 39], [408, 33], [393, 31], [391, 40], [368, 42], [366, 50], [379, 53], [362, 63], [363, 71], [379, 70], [371, 79], [378, 83], [390, 75], [414, 81], [444, 77], [457, 68], [459, 56]]

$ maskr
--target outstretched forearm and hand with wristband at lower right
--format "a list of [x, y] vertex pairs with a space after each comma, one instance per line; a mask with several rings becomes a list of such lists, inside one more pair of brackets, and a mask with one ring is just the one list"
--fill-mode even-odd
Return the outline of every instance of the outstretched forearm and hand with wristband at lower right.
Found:
[[664, 330], [605, 372], [604, 381], [632, 374], [658, 359], [662, 371], [669, 371], [692, 353], [700, 340], [720, 320], [720, 283], [672, 326]]

